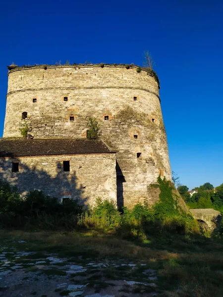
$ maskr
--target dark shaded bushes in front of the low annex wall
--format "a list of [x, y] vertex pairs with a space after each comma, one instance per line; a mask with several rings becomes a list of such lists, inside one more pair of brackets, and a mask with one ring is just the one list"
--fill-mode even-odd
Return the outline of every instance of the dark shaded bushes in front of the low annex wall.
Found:
[[0, 181], [0, 226], [2, 228], [25, 228], [56, 230], [77, 226], [77, 216], [82, 213], [77, 200], [59, 203], [57, 198], [32, 191], [21, 197], [15, 187]]

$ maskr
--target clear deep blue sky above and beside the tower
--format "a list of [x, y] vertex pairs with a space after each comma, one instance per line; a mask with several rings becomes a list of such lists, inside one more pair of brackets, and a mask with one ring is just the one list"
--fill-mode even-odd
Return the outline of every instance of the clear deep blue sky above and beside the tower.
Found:
[[1, 1], [0, 135], [6, 65], [141, 65], [145, 50], [161, 81], [171, 169], [190, 189], [222, 184], [222, 0]]

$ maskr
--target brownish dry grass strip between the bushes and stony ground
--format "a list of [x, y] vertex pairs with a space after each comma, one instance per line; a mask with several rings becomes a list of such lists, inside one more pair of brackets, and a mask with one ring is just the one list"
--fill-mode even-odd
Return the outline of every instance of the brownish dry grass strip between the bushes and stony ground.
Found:
[[84, 249], [95, 251], [100, 256], [118, 256], [123, 258], [135, 258], [147, 260], [152, 258], [159, 258], [161, 260], [176, 257], [175, 253], [169, 253], [166, 250], [153, 250], [149, 247], [136, 246], [134, 243], [127, 240], [115, 238], [112, 235], [103, 235], [92, 237], [88, 233], [58, 233], [58, 232], [22, 232], [10, 231], [0, 232], [0, 238], [10, 238], [11, 240], [26, 240], [31, 242], [41, 242], [45, 245], [65, 246], [65, 248], [72, 247], [75, 250], [84, 252]]

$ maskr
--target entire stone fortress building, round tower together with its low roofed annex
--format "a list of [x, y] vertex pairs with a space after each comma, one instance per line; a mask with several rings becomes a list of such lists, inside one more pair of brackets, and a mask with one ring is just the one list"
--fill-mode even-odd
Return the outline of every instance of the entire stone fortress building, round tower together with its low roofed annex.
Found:
[[[170, 180], [171, 171], [159, 79], [153, 71], [115, 64], [8, 70], [0, 178], [21, 191], [35, 188], [58, 198], [77, 197], [78, 189], [92, 203], [99, 196], [119, 206], [156, 200], [150, 184], [159, 175]], [[98, 141], [86, 138], [89, 117], [100, 123]], [[21, 129], [33, 139], [22, 139]], [[11, 172], [13, 166], [19, 171]], [[38, 174], [48, 178], [38, 179]], [[69, 179], [66, 186], [64, 179]]]

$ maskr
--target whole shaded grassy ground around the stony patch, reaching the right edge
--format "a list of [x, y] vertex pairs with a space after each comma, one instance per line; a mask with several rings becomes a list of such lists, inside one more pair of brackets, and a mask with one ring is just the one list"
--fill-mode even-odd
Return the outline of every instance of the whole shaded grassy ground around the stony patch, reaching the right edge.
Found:
[[[82, 262], [90, 257], [98, 261], [124, 259], [129, 263], [132, 260], [145, 263], [147, 268], [157, 271], [158, 296], [223, 296], [223, 244], [210, 238], [163, 234], [146, 241], [126, 241], [112, 233], [93, 230], [86, 233], [1, 231], [0, 239], [24, 240], [19, 248], [35, 251], [37, 255], [49, 252], [60, 257], [81, 256]], [[120, 280], [132, 273], [133, 280], [145, 281], [140, 269], [132, 273], [124, 267], [105, 268], [103, 273], [111, 280]]]

